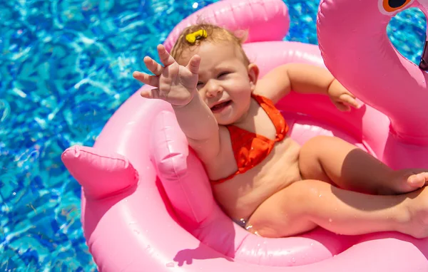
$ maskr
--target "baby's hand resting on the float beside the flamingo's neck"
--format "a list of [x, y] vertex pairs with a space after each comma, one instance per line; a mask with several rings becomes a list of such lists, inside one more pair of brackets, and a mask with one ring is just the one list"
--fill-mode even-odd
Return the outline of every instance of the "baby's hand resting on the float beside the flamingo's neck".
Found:
[[333, 80], [328, 88], [328, 95], [335, 104], [336, 108], [341, 111], [350, 111], [351, 106], [354, 108], [361, 108], [360, 103], [355, 99], [355, 95], [352, 95], [342, 84], [337, 80]]

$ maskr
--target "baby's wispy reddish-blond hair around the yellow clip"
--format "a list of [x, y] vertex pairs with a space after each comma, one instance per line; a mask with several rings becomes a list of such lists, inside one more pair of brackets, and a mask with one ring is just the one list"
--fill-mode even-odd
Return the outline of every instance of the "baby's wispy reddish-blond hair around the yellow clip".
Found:
[[[204, 33], [206, 33], [206, 35], [199, 35], [193, 42], [188, 41], [186, 36], [188, 36], [188, 34], [195, 33], [196, 31], [205, 31]], [[205, 41], [210, 41], [213, 43], [228, 42], [238, 46], [240, 52], [243, 54], [245, 64], [250, 64], [250, 60], [248, 59], [247, 54], [245, 54], [242, 46], [242, 44], [245, 42], [246, 35], [244, 31], [240, 32], [243, 34], [235, 34], [226, 28], [215, 26], [211, 23], [198, 23], [193, 26], [188, 26], [180, 33], [180, 36], [175, 42], [170, 54], [175, 60], [177, 60], [177, 58], [180, 58], [180, 56], [183, 54], [183, 51], [187, 49], [191, 50], [197, 46], [200, 46], [200, 44]]]

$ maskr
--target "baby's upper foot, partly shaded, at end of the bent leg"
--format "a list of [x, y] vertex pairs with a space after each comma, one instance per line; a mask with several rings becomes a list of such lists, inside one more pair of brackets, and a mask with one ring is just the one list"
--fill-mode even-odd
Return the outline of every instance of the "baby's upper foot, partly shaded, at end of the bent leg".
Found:
[[[394, 177], [385, 194], [404, 194], [428, 185], [427, 169], [402, 169], [394, 171]], [[389, 191], [390, 190], [390, 191]]]

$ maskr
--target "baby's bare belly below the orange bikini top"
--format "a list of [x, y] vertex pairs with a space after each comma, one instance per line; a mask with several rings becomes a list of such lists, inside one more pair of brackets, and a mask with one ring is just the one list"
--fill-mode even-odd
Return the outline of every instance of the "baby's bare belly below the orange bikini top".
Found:
[[301, 179], [299, 150], [290, 138], [277, 143], [261, 164], [213, 185], [215, 199], [232, 219], [248, 219], [268, 197]]

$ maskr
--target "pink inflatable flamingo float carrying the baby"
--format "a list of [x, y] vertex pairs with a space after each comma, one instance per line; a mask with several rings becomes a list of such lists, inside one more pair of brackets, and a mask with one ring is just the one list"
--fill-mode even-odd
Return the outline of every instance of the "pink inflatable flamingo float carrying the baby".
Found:
[[[403, 9], [417, 6], [407, 2]], [[392, 167], [428, 167], [427, 74], [389, 43], [385, 28], [399, 9], [385, 5], [329, 0], [320, 6], [325, 63], [367, 105], [341, 113], [328, 98], [292, 93], [277, 106], [299, 142], [337, 135]], [[217, 2], [179, 23], [165, 46], [199, 18], [247, 29], [245, 51], [262, 76], [282, 63], [323, 65], [317, 46], [282, 41], [289, 18], [281, 0]], [[111, 117], [94, 147], [62, 155], [83, 187], [84, 234], [100, 271], [428, 271], [427, 239], [323, 229], [265, 239], [241, 229], [215, 203], [170, 105], [139, 93]]]

